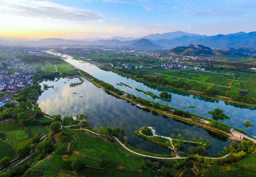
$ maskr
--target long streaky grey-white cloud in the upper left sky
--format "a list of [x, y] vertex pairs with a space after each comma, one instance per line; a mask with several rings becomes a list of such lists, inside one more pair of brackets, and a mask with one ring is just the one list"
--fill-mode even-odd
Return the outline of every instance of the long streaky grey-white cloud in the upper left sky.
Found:
[[101, 20], [101, 16], [95, 12], [49, 1], [0, 0], [0, 4], [0, 12], [5, 14], [71, 21]]

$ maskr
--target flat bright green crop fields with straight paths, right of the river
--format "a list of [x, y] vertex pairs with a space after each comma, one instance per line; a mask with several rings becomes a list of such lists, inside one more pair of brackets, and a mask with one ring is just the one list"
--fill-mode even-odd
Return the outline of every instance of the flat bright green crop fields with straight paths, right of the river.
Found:
[[[145, 69], [151, 73], [158, 73], [170, 84], [187, 83], [192, 89], [200, 87], [212, 88], [219, 91], [221, 96], [233, 96], [245, 90], [250, 98], [256, 97], [256, 73], [243, 71], [196, 71], [192, 69], [168, 70], [162, 68]], [[149, 75], [155, 77], [156, 75]], [[234, 81], [232, 81], [234, 79]], [[232, 83], [230, 89], [228, 87]], [[228, 92], [227, 92], [228, 90]], [[228, 94], [226, 94], [226, 92]]]

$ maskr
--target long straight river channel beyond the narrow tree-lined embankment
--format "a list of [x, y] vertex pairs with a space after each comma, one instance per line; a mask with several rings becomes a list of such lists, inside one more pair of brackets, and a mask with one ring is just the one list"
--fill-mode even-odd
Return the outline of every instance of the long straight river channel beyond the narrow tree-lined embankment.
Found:
[[[220, 122], [225, 122], [230, 126], [236, 126], [248, 132], [248, 134], [256, 135], [256, 108], [253, 106], [244, 106], [241, 104], [233, 104], [230, 102], [224, 102], [221, 100], [214, 100], [205, 98], [202, 96], [196, 96], [193, 94], [186, 94], [183, 92], [178, 92], [175, 90], [168, 90], [170, 94], [172, 94], [172, 100], [170, 102], [166, 102], [161, 99], [153, 99], [151, 96], [143, 94], [142, 92], [138, 92], [135, 88], [139, 88], [144, 91], [153, 92], [156, 95], [159, 95], [162, 90], [159, 88], [152, 88], [143, 83], [137, 82], [133, 79], [123, 77], [118, 75], [112, 71], [104, 71], [93, 64], [85, 63], [84, 61], [78, 61], [72, 59], [72, 57], [64, 58], [66, 62], [74, 65], [75, 67], [89, 73], [90, 75], [100, 79], [106, 83], [113, 85], [114, 87], [123, 90], [129, 94], [134, 94], [135, 96], [139, 96], [141, 98], [145, 98], [148, 100], [154, 100], [155, 102], [167, 104], [173, 106], [174, 108], [179, 108], [182, 110], [186, 110], [188, 112], [192, 112], [194, 114], [210, 117], [212, 115], [208, 113], [208, 111], [214, 110], [215, 108], [219, 108], [224, 110], [224, 113], [232, 119], [226, 120], [218, 120]], [[132, 88], [116, 85], [117, 83], [122, 82], [126, 85], [129, 85]], [[196, 109], [189, 108], [189, 106], [196, 106]], [[250, 123], [254, 125], [254, 127], [245, 128], [243, 123], [245, 120], [250, 120]]]

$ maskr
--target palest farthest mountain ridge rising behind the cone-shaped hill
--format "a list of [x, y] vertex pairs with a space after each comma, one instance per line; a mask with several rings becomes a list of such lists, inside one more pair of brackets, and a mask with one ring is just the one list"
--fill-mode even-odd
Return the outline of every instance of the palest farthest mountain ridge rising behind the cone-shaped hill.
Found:
[[200, 34], [185, 33], [183, 31], [175, 31], [175, 32], [162, 33], [162, 34], [159, 34], [159, 33], [150, 34], [140, 38], [159, 40], [159, 39], [173, 39], [174, 37], [181, 37], [183, 35], [192, 36], [192, 35], [200, 35]]

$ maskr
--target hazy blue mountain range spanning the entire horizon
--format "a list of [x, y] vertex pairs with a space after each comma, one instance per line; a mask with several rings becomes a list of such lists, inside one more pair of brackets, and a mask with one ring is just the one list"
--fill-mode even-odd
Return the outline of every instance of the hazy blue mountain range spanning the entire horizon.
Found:
[[0, 38], [0, 45], [105, 45], [114, 47], [133, 48], [174, 48], [190, 44], [200, 44], [216, 49], [230, 47], [256, 48], [256, 31], [245, 33], [218, 34], [213, 36], [185, 33], [183, 31], [168, 32], [163, 34], [150, 34], [139, 38], [112, 37], [110, 39], [90, 38], [88, 40], [46, 38], [27, 40], [20, 38]]

